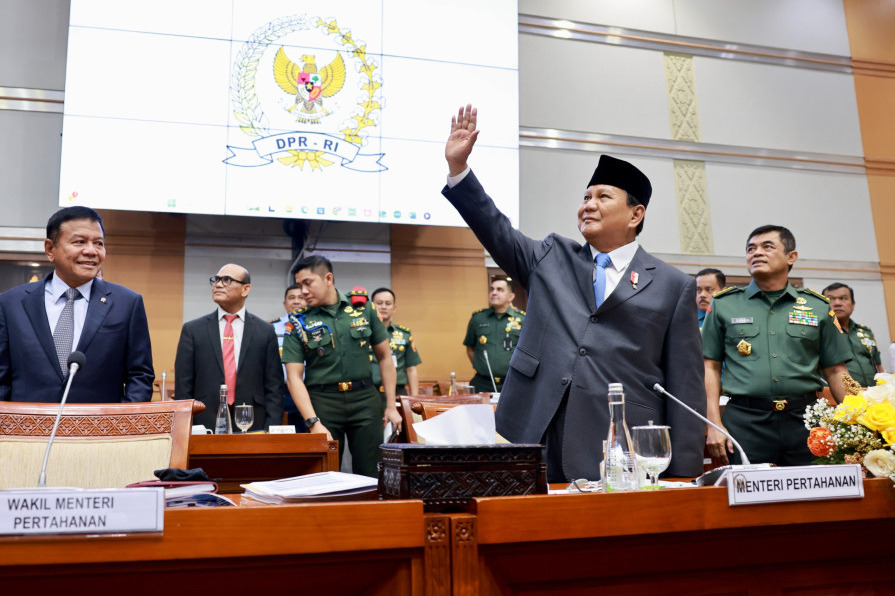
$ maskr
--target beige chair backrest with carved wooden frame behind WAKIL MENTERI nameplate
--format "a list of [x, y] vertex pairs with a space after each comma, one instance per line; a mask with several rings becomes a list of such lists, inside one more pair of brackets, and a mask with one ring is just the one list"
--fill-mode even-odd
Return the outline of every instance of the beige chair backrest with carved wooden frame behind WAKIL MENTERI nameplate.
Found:
[[[185, 468], [193, 410], [193, 400], [66, 405], [47, 484], [119, 487]], [[0, 402], [0, 488], [37, 485], [58, 411], [59, 404]]]

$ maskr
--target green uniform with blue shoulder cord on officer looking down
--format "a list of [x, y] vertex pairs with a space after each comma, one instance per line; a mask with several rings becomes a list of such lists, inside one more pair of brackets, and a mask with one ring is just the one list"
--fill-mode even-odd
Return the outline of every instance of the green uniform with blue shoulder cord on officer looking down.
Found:
[[377, 476], [383, 404], [370, 374], [370, 346], [388, 339], [372, 305], [354, 308], [342, 292], [329, 306], [289, 314], [283, 362], [305, 364], [304, 383], [314, 411], [344, 453], [351, 444], [356, 474]]

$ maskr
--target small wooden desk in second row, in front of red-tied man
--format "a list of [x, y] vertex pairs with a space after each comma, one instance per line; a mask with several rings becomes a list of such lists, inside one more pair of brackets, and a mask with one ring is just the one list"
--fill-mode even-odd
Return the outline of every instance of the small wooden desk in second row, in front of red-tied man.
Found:
[[192, 435], [188, 468], [220, 478], [221, 493], [241, 493], [240, 484], [339, 470], [339, 444], [326, 435]]

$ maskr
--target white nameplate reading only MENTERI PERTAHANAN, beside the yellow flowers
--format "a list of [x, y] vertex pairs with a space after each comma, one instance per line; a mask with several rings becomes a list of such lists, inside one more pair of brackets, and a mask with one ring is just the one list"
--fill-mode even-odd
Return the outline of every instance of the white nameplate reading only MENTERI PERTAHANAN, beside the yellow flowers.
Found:
[[730, 505], [864, 498], [861, 466], [856, 464], [731, 470], [728, 474]]

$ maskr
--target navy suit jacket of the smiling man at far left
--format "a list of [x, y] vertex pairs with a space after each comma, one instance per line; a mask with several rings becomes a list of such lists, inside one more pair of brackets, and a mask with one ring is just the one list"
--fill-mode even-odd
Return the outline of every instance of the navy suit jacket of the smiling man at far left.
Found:
[[[51, 274], [52, 275], [52, 274]], [[59, 402], [65, 389], [44, 285], [0, 294], [0, 400]], [[93, 280], [87, 318], [76, 348], [87, 357], [72, 381], [70, 403], [152, 399], [152, 348], [143, 298], [124, 286]]]

